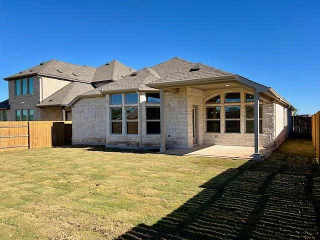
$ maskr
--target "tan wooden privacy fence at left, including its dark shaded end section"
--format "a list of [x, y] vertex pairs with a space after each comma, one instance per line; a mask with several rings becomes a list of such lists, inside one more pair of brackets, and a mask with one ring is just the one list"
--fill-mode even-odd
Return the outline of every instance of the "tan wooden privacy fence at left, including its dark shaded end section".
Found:
[[1, 121], [0, 151], [71, 144], [71, 121]]

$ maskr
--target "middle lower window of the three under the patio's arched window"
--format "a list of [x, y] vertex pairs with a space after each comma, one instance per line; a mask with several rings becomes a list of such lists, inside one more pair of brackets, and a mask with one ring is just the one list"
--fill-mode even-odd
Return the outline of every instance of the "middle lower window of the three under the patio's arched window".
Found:
[[225, 132], [240, 132], [240, 106], [225, 107]]

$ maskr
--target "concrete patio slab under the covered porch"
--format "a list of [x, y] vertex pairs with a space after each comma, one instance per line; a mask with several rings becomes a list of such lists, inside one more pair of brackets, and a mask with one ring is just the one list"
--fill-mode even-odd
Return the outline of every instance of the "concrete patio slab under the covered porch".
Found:
[[[260, 147], [260, 158], [265, 158], [272, 152], [271, 148]], [[210, 156], [252, 159], [254, 153], [253, 146], [229, 146], [229, 145], [197, 145], [190, 149], [167, 149], [164, 154], [172, 155], [191, 155], [191, 156]]]

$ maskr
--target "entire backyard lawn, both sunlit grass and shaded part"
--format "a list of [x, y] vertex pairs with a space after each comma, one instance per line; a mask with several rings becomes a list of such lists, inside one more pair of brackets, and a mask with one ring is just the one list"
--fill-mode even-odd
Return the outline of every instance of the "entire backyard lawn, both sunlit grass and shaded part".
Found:
[[315, 159], [61, 147], [0, 153], [0, 239], [315, 239]]

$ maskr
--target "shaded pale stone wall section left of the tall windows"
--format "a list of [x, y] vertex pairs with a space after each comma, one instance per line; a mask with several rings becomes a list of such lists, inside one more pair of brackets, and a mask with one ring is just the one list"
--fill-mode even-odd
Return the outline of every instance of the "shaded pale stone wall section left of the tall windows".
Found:
[[72, 144], [105, 145], [105, 97], [81, 98], [72, 107]]

